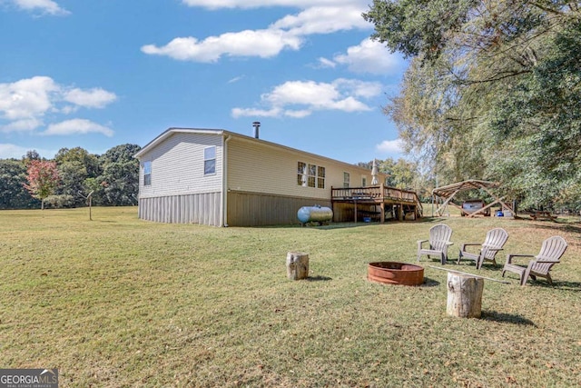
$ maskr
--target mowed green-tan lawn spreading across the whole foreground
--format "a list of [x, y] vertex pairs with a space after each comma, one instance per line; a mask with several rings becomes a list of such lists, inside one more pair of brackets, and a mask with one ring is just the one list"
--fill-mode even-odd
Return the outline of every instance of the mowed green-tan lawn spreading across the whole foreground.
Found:
[[[136, 208], [0, 212], [0, 367], [58, 368], [63, 387], [564, 387], [581, 384], [581, 225], [500, 217], [322, 227], [154, 224]], [[462, 242], [501, 226], [506, 253], [569, 248], [544, 280], [485, 281], [481, 319], [446, 314], [447, 273], [367, 281], [415, 262], [449, 224]], [[310, 254], [310, 278], [286, 254]], [[476, 273], [468, 262], [451, 269]]]

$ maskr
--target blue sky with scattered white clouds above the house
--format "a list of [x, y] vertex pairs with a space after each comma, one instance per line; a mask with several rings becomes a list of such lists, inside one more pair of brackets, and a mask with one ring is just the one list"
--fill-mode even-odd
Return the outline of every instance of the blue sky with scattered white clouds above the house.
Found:
[[370, 0], [0, 0], [0, 158], [145, 145], [169, 127], [348, 163], [399, 158], [382, 114], [407, 66]]

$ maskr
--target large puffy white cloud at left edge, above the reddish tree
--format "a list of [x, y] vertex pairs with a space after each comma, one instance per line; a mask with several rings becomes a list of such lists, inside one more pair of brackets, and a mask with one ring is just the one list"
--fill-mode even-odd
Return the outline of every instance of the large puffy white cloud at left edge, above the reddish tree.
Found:
[[[33, 132], [44, 125], [46, 116], [71, 114], [79, 108], [103, 108], [116, 99], [116, 95], [102, 88], [66, 87], [47, 76], [0, 84], [0, 132]], [[89, 132], [113, 134], [105, 127], [93, 127]]]

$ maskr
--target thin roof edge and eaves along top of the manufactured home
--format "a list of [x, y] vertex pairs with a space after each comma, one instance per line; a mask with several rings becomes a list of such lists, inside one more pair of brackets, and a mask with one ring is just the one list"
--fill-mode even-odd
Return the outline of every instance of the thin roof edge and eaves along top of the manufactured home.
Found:
[[[148, 144], [145, 144], [143, 146], [143, 148], [137, 154], [134, 154], [133, 155], [133, 157], [138, 158], [138, 159], [141, 158], [143, 156], [143, 154], [147, 154], [148, 152], [150, 152], [158, 144], [161, 144], [168, 137], [172, 136], [172, 134], [216, 134], [216, 135], [237, 137], [237, 138], [239, 138], [241, 140], [244, 140], [244, 141], [247, 141], [247, 142], [256, 143], [256, 144], [262, 144], [262, 145], [266, 145], [266, 146], [270, 146], [270, 147], [274, 147], [274, 148], [278, 148], [278, 149], [283, 149], [283, 150], [291, 151], [291, 152], [294, 152], [294, 153], [300, 153], [300, 154], [310, 155], [311, 157], [316, 157], [316, 158], [319, 158], [319, 159], [328, 160], [328, 161], [330, 161], [332, 163], [336, 163], [336, 164], [344, 164], [346, 166], [349, 166], [350, 168], [359, 169], [359, 170], [361, 170], [361, 172], [365, 172], [366, 174], [371, 174], [371, 170], [369, 170], [367, 168], [359, 167], [357, 164], [349, 164], [347, 162], [341, 162], [340, 160], [331, 159], [330, 157], [322, 156], [320, 154], [311, 154], [309, 152], [301, 151], [301, 150], [296, 149], [296, 148], [291, 148], [291, 147], [288, 147], [286, 145], [271, 143], [271, 142], [268, 142], [266, 140], [262, 140], [260, 138], [257, 139], [255, 137], [247, 136], [245, 134], [237, 134], [237, 133], [234, 133], [234, 132], [226, 131], [224, 129], [208, 129], [208, 128], [168, 128], [167, 130], [165, 130], [164, 132], [162, 132], [162, 134], [159, 134], [156, 138], [154, 138], [151, 142], [149, 142]], [[384, 174], [384, 173], [379, 173], [379, 174], [380, 175], [387, 175], [387, 174]]]

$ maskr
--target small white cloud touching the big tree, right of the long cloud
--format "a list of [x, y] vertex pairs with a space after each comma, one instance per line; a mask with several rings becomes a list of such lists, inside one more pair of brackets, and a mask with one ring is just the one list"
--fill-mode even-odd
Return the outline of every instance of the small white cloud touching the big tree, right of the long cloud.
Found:
[[363, 40], [359, 45], [347, 49], [346, 54], [335, 55], [334, 61], [347, 65], [354, 73], [386, 75], [397, 73], [403, 67], [403, 60], [379, 42]]

